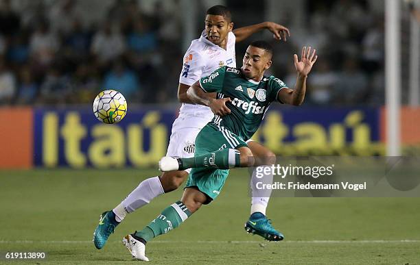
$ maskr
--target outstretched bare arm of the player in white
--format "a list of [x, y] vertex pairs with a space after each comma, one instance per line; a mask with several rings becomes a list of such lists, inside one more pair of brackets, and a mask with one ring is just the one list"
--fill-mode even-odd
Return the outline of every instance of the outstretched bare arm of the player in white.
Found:
[[236, 36], [236, 42], [240, 42], [263, 29], [268, 29], [271, 31], [276, 40], [283, 39], [286, 41], [287, 37], [290, 36], [290, 31], [287, 27], [270, 21], [250, 25], [247, 27], [240, 27], [239, 29], [233, 29], [233, 34]]

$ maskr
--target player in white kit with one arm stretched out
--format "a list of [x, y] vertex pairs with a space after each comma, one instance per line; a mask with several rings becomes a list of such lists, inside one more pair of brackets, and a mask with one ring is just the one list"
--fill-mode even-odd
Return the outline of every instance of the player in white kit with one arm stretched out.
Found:
[[[285, 40], [289, 35], [287, 28], [272, 22], [260, 23], [233, 30], [231, 13], [222, 5], [215, 5], [207, 10], [205, 18], [205, 31], [200, 38], [193, 40], [184, 56], [183, 69], [180, 73], [178, 86], [178, 99], [183, 105], [178, 118], [172, 125], [170, 144], [167, 147], [167, 156], [193, 157], [194, 142], [198, 132], [213, 118], [211, 108], [195, 105], [187, 98], [189, 86], [200, 77], [213, 73], [221, 66], [236, 67], [235, 42], [248, 38], [261, 29], [272, 31], [275, 38]], [[248, 142], [258, 164], [274, 164], [275, 154], [257, 142]], [[134, 212], [143, 205], [148, 204], [159, 195], [176, 190], [187, 179], [189, 170], [165, 172], [160, 177], [150, 177], [141, 181], [124, 201], [113, 210], [102, 213], [100, 223], [94, 233], [93, 242], [97, 249], [102, 249], [113, 233], [115, 227], [125, 218], [126, 214]], [[253, 188], [254, 177], [251, 179]], [[252, 189], [250, 220], [267, 223], [266, 207], [270, 194], [264, 190]], [[262, 192], [262, 193], [261, 193]], [[248, 222], [249, 223], [249, 220]], [[258, 225], [257, 225], [258, 227]], [[269, 227], [272, 229], [272, 227]], [[256, 234], [264, 234], [259, 231]], [[268, 237], [269, 238], [269, 237]]]

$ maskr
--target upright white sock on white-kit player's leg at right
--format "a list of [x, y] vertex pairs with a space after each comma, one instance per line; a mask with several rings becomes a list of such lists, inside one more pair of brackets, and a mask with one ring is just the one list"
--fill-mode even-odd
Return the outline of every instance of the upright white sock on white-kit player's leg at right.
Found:
[[[264, 166], [259, 166], [262, 168]], [[264, 171], [259, 171], [264, 172]], [[268, 206], [268, 201], [270, 200], [271, 191], [270, 189], [258, 189], [257, 186], [261, 187], [261, 184], [257, 185], [257, 183], [261, 182], [262, 184], [272, 184], [272, 174], [268, 175], [260, 175], [257, 176], [256, 170], [253, 172], [253, 177], [250, 181], [250, 187], [253, 199], [251, 200], [251, 209], [250, 214], [255, 212], [261, 212], [262, 214], [266, 215], [266, 210]]]

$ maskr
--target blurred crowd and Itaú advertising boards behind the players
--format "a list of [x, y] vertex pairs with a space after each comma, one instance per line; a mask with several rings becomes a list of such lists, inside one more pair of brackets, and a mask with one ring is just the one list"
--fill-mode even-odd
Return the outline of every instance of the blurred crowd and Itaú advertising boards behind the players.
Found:
[[[1, 145], [8, 151], [1, 152], [0, 167], [156, 164], [179, 106], [183, 53], [199, 36], [205, 10], [216, 3], [186, 2], [3, 1], [0, 116]], [[303, 107], [272, 108], [255, 138], [281, 155], [385, 155], [382, 1], [222, 3], [231, 6], [235, 27], [268, 20], [290, 27], [288, 42], [272, 40], [269, 73], [289, 86], [292, 54], [301, 45], [316, 47], [322, 59], [308, 79]], [[410, 31], [404, 26], [410, 13], [407, 5], [401, 8], [402, 53], [408, 58]], [[257, 38], [270, 34], [250, 40]], [[237, 62], [250, 40], [237, 45]], [[401, 67], [404, 104], [408, 60]], [[105, 88], [128, 99], [127, 118], [118, 126], [100, 125], [91, 114], [95, 94]], [[404, 154], [420, 143], [419, 126], [412, 123], [419, 114], [418, 108], [402, 110]], [[73, 125], [78, 132], [66, 133]]]

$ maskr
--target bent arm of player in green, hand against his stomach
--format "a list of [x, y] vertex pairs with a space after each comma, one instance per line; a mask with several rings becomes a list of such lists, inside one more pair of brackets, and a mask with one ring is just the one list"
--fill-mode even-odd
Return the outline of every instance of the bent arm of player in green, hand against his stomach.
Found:
[[196, 81], [187, 90], [187, 96], [192, 102], [209, 107], [215, 115], [224, 116], [231, 113], [231, 110], [226, 107], [226, 102], [231, 99], [229, 97], [215, 99], [215, 93], [205, 92], [200, 86], [200, 81]]

